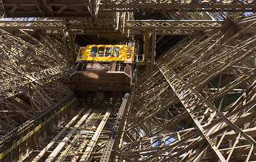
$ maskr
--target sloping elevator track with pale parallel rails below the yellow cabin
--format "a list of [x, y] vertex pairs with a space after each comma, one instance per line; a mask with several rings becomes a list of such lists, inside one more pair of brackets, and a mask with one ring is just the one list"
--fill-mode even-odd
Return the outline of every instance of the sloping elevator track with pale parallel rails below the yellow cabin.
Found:
[[[26, 135], [16, 136], [22, 139], [27, 137], [26, 139], [8, 140], [14, 144], [9, 148], [2, 148], [2, 150], [7, 149], [2, 151], [1, 159], [26, 162], [109, 161], [115, 137], [122, 132], [119, 126], [128, 107], [127, 101], [128, 94], [120, 101], [105, 99], [93, 105], [73, 107], [69, 113], [63, 108], [67, 105], [62, 105], [58, 107], [60, 110], [48, 112], [48, 116], [42, 114], [44, 118], [30, 126], [33, 129], [24, 130], [26, 133], [22, 134]], [[75, 103], [69, 103], [69, 106], [72, 104]], [[20, 130], [16, 131], [16, 134], [19, 134]], [[111, 143], [110, 150], [109, 143]], [[116, 143], [115, 145], [118, 145], [119, 141]], [[26, 149], [22, 151], [23, 148]], [[101, 158], [103, 154], [105, 158]]]

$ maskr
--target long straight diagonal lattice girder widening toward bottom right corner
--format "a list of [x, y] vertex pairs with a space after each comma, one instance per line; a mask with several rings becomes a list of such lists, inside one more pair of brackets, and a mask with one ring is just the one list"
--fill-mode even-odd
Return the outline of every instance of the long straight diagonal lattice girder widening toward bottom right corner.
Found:
[[[194, 88], [191, 88], [187, 82], [179, 78], [166, 65], [160, 66], [158, 64], [158, 67], [221, 161], [229, 161], [236, 146], [254, 148], [256, 142], [251, 136], [240, 130], [232, 120], [225, 117], [223, 113], [204, 99]], [[236, 133], [236, 136], [230, 140], [235, 142], [232, 143], [231, 147], [227, 146], [227, 148], [220, 149], [219, 146], [223, 145], [225, 141], [223, 141], [223, 138], [217, 140], [217, 135], [223, 134], [222, 137], [224, 137], [227, 132], [230, 132], [228, 128]], [[230, 150], [230, 153], [227, 153], [227, 158], [225, 158], [225, 149]], [[250, 155], [246, 160], [249, 159]]]

